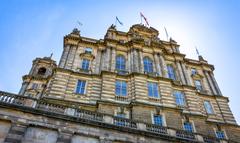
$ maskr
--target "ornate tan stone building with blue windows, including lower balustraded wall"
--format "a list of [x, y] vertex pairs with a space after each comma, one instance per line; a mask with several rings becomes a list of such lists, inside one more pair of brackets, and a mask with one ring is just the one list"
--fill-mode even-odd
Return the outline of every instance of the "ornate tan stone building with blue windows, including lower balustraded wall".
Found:
[[133, 25], [104, 39], [64, 37], [58, 65], [36, 58], [19, 94], [0, 92], [0, 142], [240, 142], [240, 128], [201, 56]]

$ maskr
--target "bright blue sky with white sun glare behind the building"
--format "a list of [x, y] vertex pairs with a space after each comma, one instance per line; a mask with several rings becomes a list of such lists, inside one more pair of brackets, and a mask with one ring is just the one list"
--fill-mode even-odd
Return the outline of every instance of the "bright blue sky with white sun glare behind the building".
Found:
[[17, 93], [21, 77], [36, 57], [58, 62], [63, 36], [80, 27], [83, 36], [103, 38], [115, 16], [128, 31], [140, 23], [143, 12], [150, 25], [166, 39], [164, 26], [188, 58], [197, 58], [195, 46], [209, 63], [240, 123], [240, 1], [233, 0], [1, 0], [0, 90]]

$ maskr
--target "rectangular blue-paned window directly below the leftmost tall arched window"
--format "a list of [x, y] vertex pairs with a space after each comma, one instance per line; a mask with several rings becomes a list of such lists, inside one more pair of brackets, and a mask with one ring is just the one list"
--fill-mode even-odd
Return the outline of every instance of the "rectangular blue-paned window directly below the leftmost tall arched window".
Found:
[[115, 94], [117, 96], [127, 96], [127, 83], [126, 81], [117, 80], [115, 83]]

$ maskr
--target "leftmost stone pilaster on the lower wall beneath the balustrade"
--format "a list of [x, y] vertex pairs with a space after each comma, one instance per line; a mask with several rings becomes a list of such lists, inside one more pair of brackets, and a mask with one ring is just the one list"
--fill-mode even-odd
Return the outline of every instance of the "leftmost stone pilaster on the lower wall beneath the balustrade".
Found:
[[24, 137], [27, 125], [23, 123], [12, 123], [4, 143], [20, 143]]

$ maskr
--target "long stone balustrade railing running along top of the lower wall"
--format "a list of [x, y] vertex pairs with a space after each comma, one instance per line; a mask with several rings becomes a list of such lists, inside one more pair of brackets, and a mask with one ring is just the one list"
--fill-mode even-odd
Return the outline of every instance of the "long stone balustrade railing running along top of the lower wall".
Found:
[[[30, 104], [32, 103], [32, 104]], [[37, 105], [33, 106], [36, 103]], [[214, 137], [204, 136], [198, 133], [187, 132], [184, 130], [177, 130], [169, 127], [163, 127], [154, 124], [147, 124], [143, 122], [135, 122], [130, 119], [115, 117], [108, 114], [75, 109], [53, 103], [47, 103], [46, 101], [37, 101], [31, 97], [24, 97], [15, 94], [10, 94], [0, 91], [0, 105], [15, 105], [17, 107], [29, 107], [32, 110], [42, 110], [49, 113], [56, 113], [59, 115], [69, 116], [76, 121], [79, 119], [85, 119], [93, 122], [101, 122], [103, 124], [111, 124], [121, 128], [131, 128], [134, 130], [151, 132], [159, 135], [167, 135], [169, 137], [175, 137], [185, 141], [196, 142], [208, 142], [208, 143], [227, 143], [227, 140], [219, 140]], [[24, 110], [24, 109], [23, 109]], [[27, 112], [27, 110], [24, 110]]]

